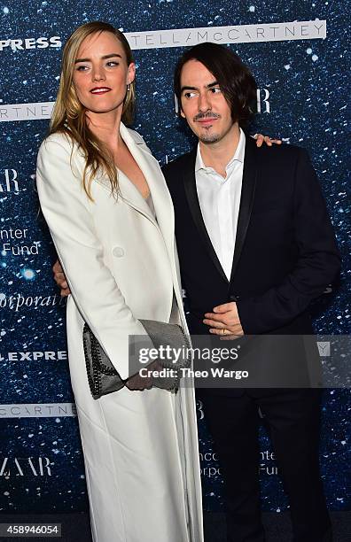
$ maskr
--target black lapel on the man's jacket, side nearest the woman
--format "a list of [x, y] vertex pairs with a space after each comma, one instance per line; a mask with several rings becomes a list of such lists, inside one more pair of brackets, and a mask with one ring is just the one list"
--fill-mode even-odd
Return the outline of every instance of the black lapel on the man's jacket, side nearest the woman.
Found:
[[184, 182], [184, 190], [185, 195], [188, 200], [189, 208], [191, 211], [192, 219], [196, 224], [196, 227], [199, 231], [199, 236], [202, 239], [203, 244], [205, 244], [205, 247], [207, 249], [207, 252], [214, 262], [214, 266], [216, 267], [219, 274], [222, 276], [222, 278], [228, 283], [228, 278], [225, 275], [220, 260], [217, 258], [217, 254], [214, 251], [214, 246], [211, 243], [211, 239], [208, 236], [207, 228], [205, 226], [205, 222], [201, 213], [201, 208], [199, 205], [199, 197], [198, 192], [196, 190], [196, 179], [195, 179], [195, 160], [196, 160], [196, 153], [197, 150], [194, 149], [191, 151], [188, 155], [188, 160], [183, 168], [183, 182]]

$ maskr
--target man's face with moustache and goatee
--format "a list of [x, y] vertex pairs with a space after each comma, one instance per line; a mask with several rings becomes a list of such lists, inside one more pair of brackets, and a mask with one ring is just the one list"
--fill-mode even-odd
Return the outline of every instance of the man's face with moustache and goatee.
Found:
[[198, 60], [189, 60], [181, 73], [181, 115], [202, 143], [216, 143], [234, 126], [215, 77]]

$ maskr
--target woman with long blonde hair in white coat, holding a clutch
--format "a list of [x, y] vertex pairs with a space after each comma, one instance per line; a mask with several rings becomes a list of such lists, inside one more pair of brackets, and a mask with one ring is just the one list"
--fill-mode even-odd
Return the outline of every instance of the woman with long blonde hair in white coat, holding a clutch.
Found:
[[[72, 295], [69, 367], [77, 406], [90, 521], [96, 542], [201, 542], [194, 391], [176, 393], [129, 375], [139, 319], [186, 329], [174, 212], [160, 166], [126, 128], [135, 100], [129, 43], [91, 22], [68, 39], [37, 188]], [[125, 385], [91, 397], [87, 323]]]

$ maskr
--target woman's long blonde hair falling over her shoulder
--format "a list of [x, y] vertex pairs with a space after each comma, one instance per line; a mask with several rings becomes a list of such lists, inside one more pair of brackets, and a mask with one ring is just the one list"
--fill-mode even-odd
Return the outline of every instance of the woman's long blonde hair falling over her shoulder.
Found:
[[[76, 28], [74, 33], [66, 41], [63, 50], [58, 97], [52, 112], [50, 127], [50, 134], [56, 132], [66, 134], [83, 152], [85, 167], [82, 175], [82, 183], [90, 200], [92, 200], [91, 183], [98, 173], [108, 176], [113, 195], [117, 196], [119, 189], [118, 174], [113, 163], [113, 156], [106, 145], [91, 132], [86, 119], [87, 109], [79, 101], [73, 81], [74, 61], [77, 58], [82, 42], [89, 35], [100, 34], [101, 32], [110, 32], [115, 35], [121, 42], [126, 55], [127, 65], [129, 66], [130, 63], [134, 62], [126, 37], [112, 25], [105, 22], [93, 21]], [[130, 124], [133, 120], [135, 101], [136, 82], [134, 80], [130, 83], [129, 90], [126, 91], [126, 97], [124, 98], [121, 120], [125, 124]]]

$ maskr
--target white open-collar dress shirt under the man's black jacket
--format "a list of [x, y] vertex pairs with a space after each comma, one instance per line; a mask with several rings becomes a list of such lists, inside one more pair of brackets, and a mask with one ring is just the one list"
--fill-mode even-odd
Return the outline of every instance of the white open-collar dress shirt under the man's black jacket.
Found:
[[244, 156], [245, 134], [240, 128], [238, 147], [225, 168], [225, 179], [212, 167], [205, 166], [199, 145], [195, 162], [196, 188], [202, 217], [228, 280], [237, 236]]

